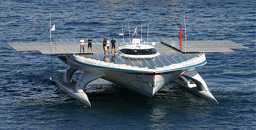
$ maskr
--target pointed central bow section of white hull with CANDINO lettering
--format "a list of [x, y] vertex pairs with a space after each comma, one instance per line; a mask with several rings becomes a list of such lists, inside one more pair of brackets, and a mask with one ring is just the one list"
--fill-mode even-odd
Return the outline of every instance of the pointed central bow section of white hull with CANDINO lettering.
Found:
[[141, 93], [143, 95], [152, 97], [168, 82], [180, 76], [182, 72], [173, 72], [168, 74], [130, 74], [130, 73], [107, 73], [102, 77], [105, 80], [113, 82]]

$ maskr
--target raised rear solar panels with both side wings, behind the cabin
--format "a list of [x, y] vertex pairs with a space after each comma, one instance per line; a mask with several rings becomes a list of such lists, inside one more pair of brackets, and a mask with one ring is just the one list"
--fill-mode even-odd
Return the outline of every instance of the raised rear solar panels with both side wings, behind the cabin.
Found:
[[[85, 39], [86, 41], [87, 39]], [[102, 47], [103, 39], [92, 39], [92, 51], [95, 54], [104, 52]], [[132, 39], [116, 38], [116, 49], [120, 45], [130, 44]], [[152, 44], [155, 42], [155, 48], [161, 53], [195, 53], [195, 52], [233, 52], [231, 49], [247, 48], [232, 41], [178, 41], [175, 38], [142, 38], [143, 43]], [[16, 51], [39, 51], [42, 54], [77, 54], [80, 51], [79, 39], [57, 39], [50, 42], [18, 42], [7, 43]], [[85, 52], [87, 52], [87, 44], [85, 43]], [[111, 48], [111, 46], [110, 46]]]

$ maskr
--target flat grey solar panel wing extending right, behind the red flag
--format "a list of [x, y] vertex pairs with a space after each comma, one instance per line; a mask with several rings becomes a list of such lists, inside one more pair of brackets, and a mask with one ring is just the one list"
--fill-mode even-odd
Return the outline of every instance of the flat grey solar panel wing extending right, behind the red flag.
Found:
[[234, 52], [231, 49], [246, 48], [232, 41], [161, 41], [181, 52]]

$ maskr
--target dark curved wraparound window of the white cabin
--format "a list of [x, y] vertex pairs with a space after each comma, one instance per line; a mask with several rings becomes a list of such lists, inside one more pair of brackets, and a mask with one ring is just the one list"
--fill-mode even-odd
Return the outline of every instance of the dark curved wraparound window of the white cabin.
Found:
[[120, 50], [124, 54], [132, 54], [132, 55], [147, 55], [147, 54], [156, 54], [157, 50], [152, 49], [122, 49]]

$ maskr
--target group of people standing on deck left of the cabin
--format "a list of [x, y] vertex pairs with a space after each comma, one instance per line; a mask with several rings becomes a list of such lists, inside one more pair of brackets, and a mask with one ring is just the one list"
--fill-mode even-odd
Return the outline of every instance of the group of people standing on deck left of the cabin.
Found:
[[[114, 48], [114, 52], [115, 52], [116, 41], [115, 41], [114, 37], [112, 38], [111, 41], [109, 41], [108, 39], [104, 38], [104, 41], [102, 41], [102, 44], [103, 44], [104, 54], [108, 54], [109, 53], [109, 44], [111, 44], [111, 53], [113, 51], [113, 48]], [[89, 48], [91, 48], [91, 47], [92, 47], [92, 40], [91, 40], [91, 37], [89, 37], [87, 53], [89, 52]], [[85, 40], [84, 40], [83, 37], [80, 39], [80, 52], [85, 52]], [[91, 52], [92, 52], [92, 49], [91, 49]]]

